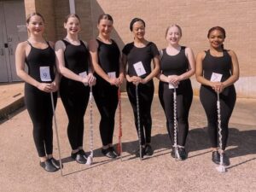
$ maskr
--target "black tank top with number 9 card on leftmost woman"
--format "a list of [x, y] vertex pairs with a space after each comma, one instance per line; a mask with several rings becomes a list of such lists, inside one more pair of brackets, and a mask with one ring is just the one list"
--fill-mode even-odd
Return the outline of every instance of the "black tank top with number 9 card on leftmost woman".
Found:
[[[28, 74], [36, 79], [38, 82], [52, 82], [55, 79], [54, 66], [55, 66], [55, 51], [48, 44], [45, 49], [38, 49], [32, 46], [32, 44], [27, 41], [31, 46], [30, 53], [26, 56], [25, 62], [28, 67]], [[50, 80], [45, 81], [41, 79], [40, 67], [49, 67]]]

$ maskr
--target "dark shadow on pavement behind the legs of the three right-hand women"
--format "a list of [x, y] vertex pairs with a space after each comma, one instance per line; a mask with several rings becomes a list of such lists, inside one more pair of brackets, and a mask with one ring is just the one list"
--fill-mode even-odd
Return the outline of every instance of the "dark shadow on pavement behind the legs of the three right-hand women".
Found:
[[[237, 128], [230, 128], [228, 147], [226, 154], [230, 158], [245, 156], [247, 154], [256, 154], [256, 130], [239, 131]], [[123, 144], [123, 151], [128, 154], [134, 154], [138, 149], [138, 141], [132, 141]], [[167, 134], [157, 134], [152, 137], [152, 146], [155, 151], [170, 151], [171, 142]], [[209, 149], [210, 143], [207, 134], [207, 128], [195, 128], [189, 131], [187, 137], [186, 149], [188, 152]], [[100, 149], [97, 149], [100, 150]], [[208, 153], [204, 152], [205, 153]], [[200, 155], [200, 154], [195, 154]], [[195, 156], [194, 155], [194, 156]], [[192, 156], [190, 156], [191, 158]]]

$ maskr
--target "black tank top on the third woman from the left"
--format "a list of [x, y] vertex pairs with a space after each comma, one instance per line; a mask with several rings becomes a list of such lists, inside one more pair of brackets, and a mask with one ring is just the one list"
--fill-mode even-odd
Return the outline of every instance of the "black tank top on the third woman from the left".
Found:
[[[118, 45], [113, 39], [111, 40], [112, 44], [104, 44], [99, 39], [96, 39], [98, 43], [98, 63], [105, 73], [115, 72], [116, 78], [118, 78], [120, 51]], [[100, 78], [98, 75], [96, 76]]]

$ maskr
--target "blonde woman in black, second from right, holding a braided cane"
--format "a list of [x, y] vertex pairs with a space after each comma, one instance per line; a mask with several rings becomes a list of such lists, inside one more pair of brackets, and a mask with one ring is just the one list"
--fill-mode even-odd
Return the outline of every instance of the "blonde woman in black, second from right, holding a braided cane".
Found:
[[[189, 108], [193, 99], [193, 90], [190, 77], [195, 73], [195, 57], [192, 49], [179, 44], [182, 38], [182, 29], [178, 25], [166, 29], [166, 49], [160, 50], [160, 79], [159, 98], [166, 113], [166, 127], [172, 142], [172, 157], [175, 157], [177, 144], [177, 158], [185, 160], [186, 138], [189, 132]], [[173, 92], [177, 97], [173, 100]], [[176, 102], [176, 103], [174, 103]], [[174, 106], [177, 105], [177, 113]], [[176, 114], [175, 114], [176, 113]], [[174, 116], [177, 117], [177, 127]], [[177, 130], [175, 130], [177, 129]], [[176, 143], [175, 143], [176, 142]]]

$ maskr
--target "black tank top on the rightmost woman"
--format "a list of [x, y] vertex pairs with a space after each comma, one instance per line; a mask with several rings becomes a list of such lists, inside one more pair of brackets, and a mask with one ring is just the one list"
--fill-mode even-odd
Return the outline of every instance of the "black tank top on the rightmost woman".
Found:
[[216, 57], [210, 54], [210, 50], [206, 51], [206, 56], [202, 61], [203, 75], [205, 79], [210, 80], [212, 73], [222, 74], [221, 82], [230, 78], [232, 60], [226, 49], [223, 51], [223, 56]]

